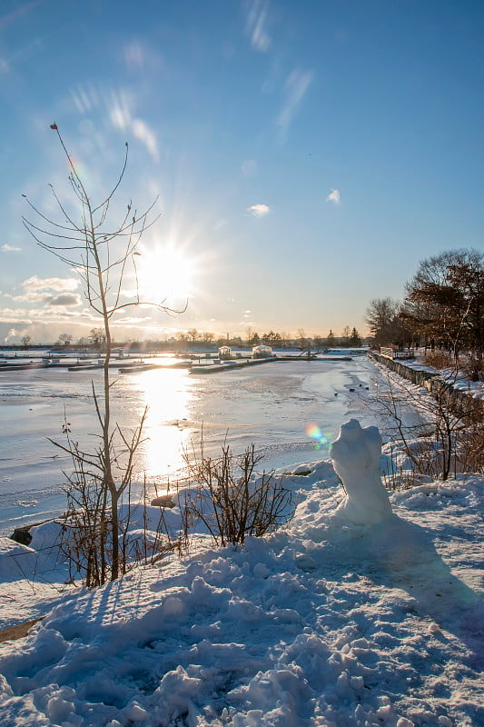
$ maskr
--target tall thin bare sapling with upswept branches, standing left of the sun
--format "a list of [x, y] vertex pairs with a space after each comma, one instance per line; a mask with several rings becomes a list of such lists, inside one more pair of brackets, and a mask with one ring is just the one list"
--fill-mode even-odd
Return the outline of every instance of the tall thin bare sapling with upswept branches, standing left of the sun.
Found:
[[[119, 512], [120, 499], [126, 488], [131, 485], [133, 475], [134, 454], [143, 441], [143, 422], [146, 410], [140, 422], [131, 433], [124, 433], [112, 421], [111, 389], [109, 364], [112, 354], [111, 322], [114, 315], [129, 306], [142, 303], [138, 292], [138, 277], [135, 256], [139, 255], [138, 244], [143, 233], [158, 218], [153, 216], [156, 200], [146, 210], [138, 213], [133, 203], [124, 208], [121, 218], [111, 223], [110, 208], [114, 194], [123, 180], [128, 159], [128, 144], [121, 173], [118, 175], [111, 191], [100, 202], [94, 202], [88, 193], [84, 180], [73, 158], [67, 150], [64, 139], [57, 124], [51, 128], [58, 136], [69, 165], [69, 183], [73, 195], [69, 206], [61, 201], [52, 184], [54, 201], [58, 205], [59, 221], [43, 214], [27, 199], [31, 210], [36, 215], [36, 224], [23, 217], [26, 229], [33, 235], [37, 243], [59, 260], [67, 264], [81, 276], [84, 281], [84, 294], [95, 314], [100, 316], [104, 335], [104, 376], [102, 395], [96, 392], [94, 382], [92, 390], [97, 421], [100, 427], [99, 444], [93, 450], [86, 450], [68, 440], [66, 445], [54, 444], [69, 453], [74, 460], [74, 481], [80, 479], [84, 486], [86, 476], [101, 487], [102, 497], [109, 503], [109, 531], [111, 554], [111, 580], [122, 572], [120, 562]], [[74, 202], [74, 204], [72, 204]], [[74, 209], [75, 214], [70, 210]], [[136, 292], [133, 300], [125, 303], [122, 298], [123, 281], [132, 270], [136, 281]], [[143, 303], [147, 303], [143, 301]], [[165, 311], [169, 309], [163, 301], [157, 304]], [[186, 308], [186, 305], [185, 305]], [[70, 483], [73, 483], [71, 478]], [[102, 523], [102, 527], [106, 523]], [[105, 543], [105, 541], [104, 541]], [[107, 580], [107, 568], [104, 569], [104, 580]]]

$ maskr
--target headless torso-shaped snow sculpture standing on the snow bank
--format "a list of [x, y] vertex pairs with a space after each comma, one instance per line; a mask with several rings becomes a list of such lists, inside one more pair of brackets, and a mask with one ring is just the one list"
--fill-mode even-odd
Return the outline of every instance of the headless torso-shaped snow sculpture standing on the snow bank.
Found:
[[336, 512], [355, 525], [374, 525], [391, 515], [389, 496], [380, 479], [380, 453], [378, 428], [361, 429], [356, 419], [341, 424], [340, 436], [331, 444], [334, 471], [346, 492]]

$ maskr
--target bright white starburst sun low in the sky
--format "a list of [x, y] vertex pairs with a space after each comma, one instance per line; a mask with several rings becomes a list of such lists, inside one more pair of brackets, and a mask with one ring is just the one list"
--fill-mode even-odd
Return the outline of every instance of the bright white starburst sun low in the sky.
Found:
[[173, 244], [140, 246], [136, 257], [138, 284], [144, 298], [168, 305], [181, 304], [193, 296], [193, 258]]

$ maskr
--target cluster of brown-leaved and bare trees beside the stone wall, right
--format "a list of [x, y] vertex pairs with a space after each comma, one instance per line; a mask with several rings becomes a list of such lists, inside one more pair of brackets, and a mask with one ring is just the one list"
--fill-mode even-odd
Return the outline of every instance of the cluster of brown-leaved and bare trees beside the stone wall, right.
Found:
[[483, 373], [484, 254], [461, 248], [420, 262], [402, 301], [370, 301], [365, 316], [375, 345], [444, 349], [466, 354], [471, 378]]

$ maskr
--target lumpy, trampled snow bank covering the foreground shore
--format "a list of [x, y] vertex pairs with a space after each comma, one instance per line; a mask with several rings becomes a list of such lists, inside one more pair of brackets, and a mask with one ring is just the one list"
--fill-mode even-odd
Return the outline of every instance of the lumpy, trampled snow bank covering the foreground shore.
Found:
[[[376, 434], [346, 427], [374, 463]], [[93, 591], [59, 593], [52, 523], [28, 548], [3, 539], [0, 617], [45, 617], [0, 643], [2, 727], [484, 725], [484, 480], [396, 491], [393, 513], [355, 524], [348, 498], [366, 495], [331, 461], [279, 475], [297, 501], [279, 532], [243, 548], [201, 534]]]

